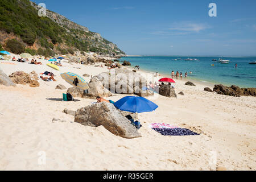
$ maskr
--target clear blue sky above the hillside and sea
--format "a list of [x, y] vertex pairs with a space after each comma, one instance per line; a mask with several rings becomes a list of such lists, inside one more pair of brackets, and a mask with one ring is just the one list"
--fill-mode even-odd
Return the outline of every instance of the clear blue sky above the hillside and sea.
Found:
[[[256, 55], [256, 1], [36, 0], [128, 55]], [[209, 3], [217, 17], [210, 17]]]

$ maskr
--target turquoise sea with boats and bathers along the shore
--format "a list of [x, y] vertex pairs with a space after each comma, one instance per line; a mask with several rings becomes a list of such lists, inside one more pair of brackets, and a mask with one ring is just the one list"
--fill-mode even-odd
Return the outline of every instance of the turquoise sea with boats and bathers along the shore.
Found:
[[[181, 60], [175, 60], [177, 58]], [[185, 72], [188, 72], [188, 78], [191, 80], [256, 88], [256, 64], [249, 64], [251, 60], [256, 60], [256, 57], [221, 57], [221, 59], [230, 60], [229, 64], [212, 61], [220, 57], [191, 56], [189, 58], [199, 61], [185, 61], [187, 58], [187, 56], [136, 56], [122, 57], [119, 60], [130, 61], [133, 67], [139, 65], [144, 71], [159, 72], [170, 76], [171, 71], [175, 73], [179, 71], [183, 73], [183, 78]], [[214, 67], [211, 64], [214, 64]], [[192, 74], [189, 74], [190, 71]]]

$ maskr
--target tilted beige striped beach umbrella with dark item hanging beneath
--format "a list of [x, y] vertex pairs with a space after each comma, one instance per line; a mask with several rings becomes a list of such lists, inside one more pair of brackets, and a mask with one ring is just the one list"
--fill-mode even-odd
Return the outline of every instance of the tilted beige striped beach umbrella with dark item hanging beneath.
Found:
[[84, 78], [82, 78], [79, 75], [76, 75], [75, 73], [67, 72], [60, 74], [60, 76], [71, 85], [77, 86], [78, 88], [83, 90], [89, 89], [89, 86], [87, 82], [84, 80]]

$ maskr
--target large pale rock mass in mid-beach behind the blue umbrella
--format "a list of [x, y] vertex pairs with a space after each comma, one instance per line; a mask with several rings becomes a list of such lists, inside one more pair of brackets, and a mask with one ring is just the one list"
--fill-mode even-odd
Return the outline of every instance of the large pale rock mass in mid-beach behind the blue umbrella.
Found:
[[138, 73], [128, 69], [112, 69], [110, 72], [100, 73], [92, 77], [90, 82], [100, 81], [106, 89], [119, 94], [139, 94], [146, 86], [146, 79]]

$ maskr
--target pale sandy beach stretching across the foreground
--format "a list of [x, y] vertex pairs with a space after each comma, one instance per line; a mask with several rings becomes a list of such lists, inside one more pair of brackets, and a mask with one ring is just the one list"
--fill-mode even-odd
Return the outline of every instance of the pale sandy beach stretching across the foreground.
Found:
[[[55, 89], [58, 84], [71, 87], [60, 73], [94, 76], [107, 71], [106, 67], [63, 63], [60, 71], [53, 71], [46, 66], [47, 61], [43, 65], [2, 62], [13, 62], [0, 61], [7, 75], [15, 71], [52, 71], [57, 81], [39, 80], [38, 88], [0, 85], [0, 170], [256, 169], [256, 97], [218, 95], [203, 91], [203, 84], [187, 86], [185, 79], [177, 80], [175, 92], [183, 91], [185, 96], [152, 100], [159, 108], [139, 114], [142, 137], [124, 139], [102, 126], [75, 123], [63, 109], [76, 110], [96, 100], [63, 102], [66, 90]], [[85, 80], [89, 82], [90, 77]], [[124, 96], [115, 94], [109, 99], [117, 101]], [[64, 122], [52, 122], [53, 118]], [[148, 127], [152, 122], [185, 127], [201, 135], [162, 136]], [[42, 151], [46, 164], [40, 165]]]

